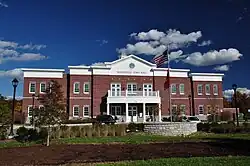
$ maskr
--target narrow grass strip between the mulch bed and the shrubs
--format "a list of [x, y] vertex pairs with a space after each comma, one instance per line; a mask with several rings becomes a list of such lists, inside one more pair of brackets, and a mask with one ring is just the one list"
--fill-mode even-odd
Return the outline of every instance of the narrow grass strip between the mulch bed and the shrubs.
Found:
[[[181, 137], [167, 137], [148, 135], [144, 133], [129, 134], [120, 137], [93, 137], [93, 138], [62, 138], [59, 140], [52, 140], [52, 144], [90, 144], [90, 143], [125, 143], [125, 144], [143, 144], [152, 142], [180, 142], [180, 141], [201, 141], [214, 139], [245, 139], [250, 140], [250, 134], [213, 134], [213, 133], [194, 133], [192, 135]], [[41, 141], [21, 143], [17, 141], [0, 142], [0, 148], [6, 147], [23, 147], [41, 144]]]

